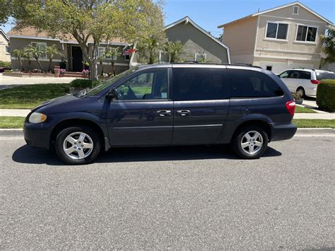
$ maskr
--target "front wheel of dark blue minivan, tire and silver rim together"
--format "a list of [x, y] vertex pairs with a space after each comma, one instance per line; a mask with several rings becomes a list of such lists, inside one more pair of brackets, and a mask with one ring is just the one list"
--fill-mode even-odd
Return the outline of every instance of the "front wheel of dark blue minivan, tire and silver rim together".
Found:
[[55, 150], [65, 163], [81, 165], [92, 162], [100, 153], [99, 136], [89, 127], [69, 127], [56, 138]]

